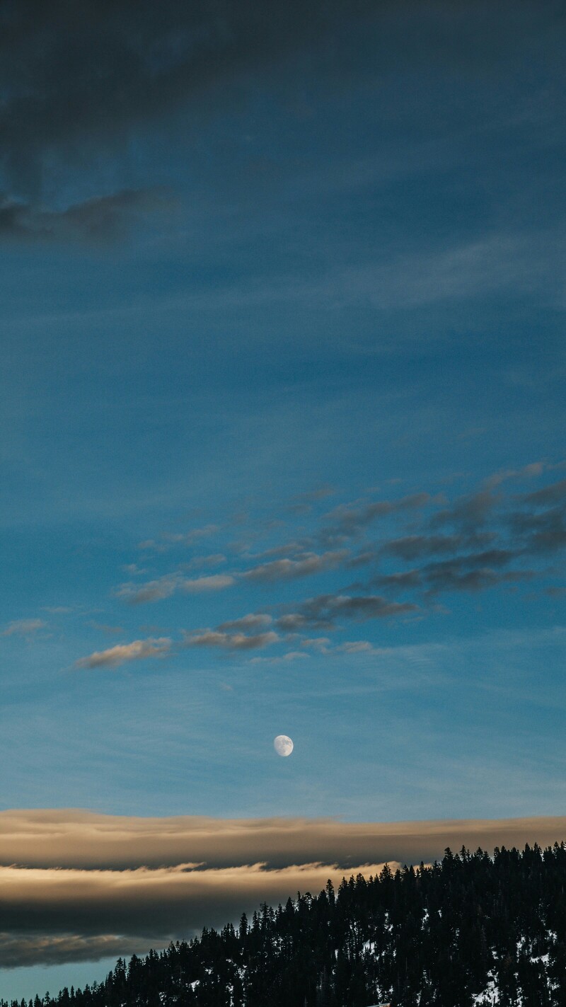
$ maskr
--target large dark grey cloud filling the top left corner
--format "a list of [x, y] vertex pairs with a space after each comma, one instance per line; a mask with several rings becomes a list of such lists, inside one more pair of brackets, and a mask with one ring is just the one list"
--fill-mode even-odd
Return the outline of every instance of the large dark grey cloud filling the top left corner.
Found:
[[[44, 160], [122, 143], [133, 126], [238, 100], [238, 77], [316, 44], [370, 0], [5, 0], [0, 6], [0, 146], [20, 192]], [[83, 151], [83, 156], [87, 153]], [[76, 155], [75, 155], [76, 159]]]

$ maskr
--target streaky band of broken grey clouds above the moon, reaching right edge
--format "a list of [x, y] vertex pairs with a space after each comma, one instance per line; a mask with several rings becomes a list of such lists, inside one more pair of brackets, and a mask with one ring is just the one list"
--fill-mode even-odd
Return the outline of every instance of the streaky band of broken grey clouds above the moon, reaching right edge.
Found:
[[[135, 606], [175, 594], [216, 593], [228, 588], [242, 595], [247, 585], [255, 583], [275, 592], [279, 584], [308, 576], [329, 577], [333, 571], [364, 565], [374, 568], [366, 583], [340, 585], [297, 600], [292, 606], [283, 606], [275, 594], [270, 610], [276, 614], [250, 612], [205, 629], [188, 629], [182, 644], [251, 651], [274, 643], [276, 632], [308, 633], [316, 627], [342, 628], [352, 619], [411, 615], [430, 610], [436, 595], [473, 594], [553, 576], [541, 562], [566, 548], [566, 480], [523, 494], [510, 494], [505, 485], [532, 479], [543, 471], [542, 462], [501, 471], [477, 491], [451, 501], [444, 494], [423, 490], [394, 499], [341, 505], [314, 517], [310, 529], [297, 529], [300, 534], [294, 539], [268, 543], [268, 548], [254, 555], [248, 549], [241, 550], [235, 561], [237, 569], [230, 573], [187, 575], [193, 565], [225, 562], [224, 553], [210, 553], [152, 580], [121, 584], [114, 595]], [[394, 527], [402, 523], [408, 534], [391, 535], [388, 522], [381, 526], [381, 537], [376, 535], [374, 523], [381, 518], [392, 519]], [[197, 538], [214, 535], [221, 527], [205, 525], [189, 534]], [[262, 527], [262, 534], [273, 541], [279, 523], [268, 526], [264, 522]], [[288, 526], [282, 527], [288, 534]], [[353, 539], [360, 546], [352, 555], [343, 543]], [[339, 541], [342, 547], [324, 551], [309, 548], [323, 541]], [[547, 587], [543, 583], [541, 590]], [[378, 593], [373, 593], [376, 589]], [[426, 609], [419, 609], [419, 600], [426, 603]]]

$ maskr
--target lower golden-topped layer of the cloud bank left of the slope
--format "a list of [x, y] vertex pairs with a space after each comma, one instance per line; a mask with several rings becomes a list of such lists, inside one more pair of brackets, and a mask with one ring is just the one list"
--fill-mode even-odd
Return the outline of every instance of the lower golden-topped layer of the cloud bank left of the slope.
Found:
[[[378, 873], [383, 863], [352, 864], [357, 873]], [[260, 902], [277, 903], [299, 891], [319, 891], [328, 878], [337, 885], [342, 870], [335, 864], [300, 863], [266, 869], [263, 862], [242, 866], [203, 868], [179, 863], [171, 867], [137, 867], [126, 870], [0, 867], [0, 910], [4, 934], [13, 942], [21, 937], [27, 960], [39, 934], [49, 939], [48, 957], [55, 958], [53, 937], [102, 937], [100, 957], [107, 947], [116, 949], [112, 936], [122, 934], [127, 947], [135, 938], [154, 946], [188, 937], [203, 925], [222, 925], [251, 912]], [[29, 907], [33, 907], [30, 913]], [[0, 945], [1, 947], [1, 945]], [[96, 945], [91, 945], [96, 950]], [[0, 952], [1, 954], [1, 952]], [[59, 945], [59, 961], [77, 960], [74, 943]], [[36, 946], [35, 961], [45, 961], [45, 950]], [[93, 957], [91, 955], [90, 957]]]

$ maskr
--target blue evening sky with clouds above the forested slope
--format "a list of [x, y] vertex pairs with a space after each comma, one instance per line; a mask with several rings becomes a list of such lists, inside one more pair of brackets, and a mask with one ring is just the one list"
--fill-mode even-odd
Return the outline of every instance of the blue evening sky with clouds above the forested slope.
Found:
[[[1, 0], [4, 997], [298, 871], [566, 839], [565, 27]], [[210, 865], [202, 821], [253, 858]], [[172, 859], [105, 860], [148, 822]], [[45, 823], [98, 852], [36, 856]], [[136, 930], [139, 872], [165, 906], [197, 862], [192, 914]]]

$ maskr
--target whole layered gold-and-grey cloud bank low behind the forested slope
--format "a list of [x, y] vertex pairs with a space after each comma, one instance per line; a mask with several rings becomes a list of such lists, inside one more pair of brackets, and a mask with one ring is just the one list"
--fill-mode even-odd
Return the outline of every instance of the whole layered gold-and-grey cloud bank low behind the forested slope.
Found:
[[317, 891], [385, 862], [430, 862], [446, 846], [541, 846], [566, 818], [343, 823], [168, 819], [83, 811], [0, 813], [0, 965], [141, 953], [262, 901]]

